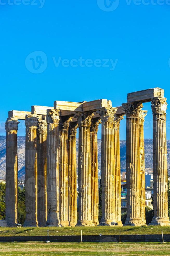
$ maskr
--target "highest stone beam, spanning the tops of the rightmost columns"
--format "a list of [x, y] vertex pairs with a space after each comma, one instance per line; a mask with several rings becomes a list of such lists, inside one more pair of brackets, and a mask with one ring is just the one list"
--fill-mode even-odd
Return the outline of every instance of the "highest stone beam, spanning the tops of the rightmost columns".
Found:
[[127, 102], [149, 102], [153, 97], [164, 97], [164, 90], [156, 87], [137, 92], [130, 92], [127, 95]]

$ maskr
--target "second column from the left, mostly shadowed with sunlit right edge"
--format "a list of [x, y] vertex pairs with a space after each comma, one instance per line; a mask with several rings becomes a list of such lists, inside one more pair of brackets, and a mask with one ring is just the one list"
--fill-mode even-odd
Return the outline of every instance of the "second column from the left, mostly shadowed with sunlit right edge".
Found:
[[37, 222], [37, 125], [38, 118], [28, 114], [25, 118], [25, 207], [24, 226], [38, 226]]

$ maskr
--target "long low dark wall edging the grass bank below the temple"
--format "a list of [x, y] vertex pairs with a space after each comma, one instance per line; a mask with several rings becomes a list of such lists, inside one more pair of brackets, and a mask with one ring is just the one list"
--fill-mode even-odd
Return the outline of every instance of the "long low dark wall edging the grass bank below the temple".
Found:
[[[46, 241], [47, 236], [0, 236], [0, 242]], [[51, 242], [80, 242], [80, 236], [49, 236]], [[83, 242], [118, 242], [119, 235], [82, 236]], [[170, 234], [164, 235], [170, 242]], [[121, 235], [121, 242], [162, 242], [162, 235]]]

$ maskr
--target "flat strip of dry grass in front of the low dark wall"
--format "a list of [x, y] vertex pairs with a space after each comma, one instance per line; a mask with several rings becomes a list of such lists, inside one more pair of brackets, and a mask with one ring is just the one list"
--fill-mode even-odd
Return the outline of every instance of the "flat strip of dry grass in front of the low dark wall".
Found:
[[0, 243], [0, 255], [170, 255], [170, 243]]

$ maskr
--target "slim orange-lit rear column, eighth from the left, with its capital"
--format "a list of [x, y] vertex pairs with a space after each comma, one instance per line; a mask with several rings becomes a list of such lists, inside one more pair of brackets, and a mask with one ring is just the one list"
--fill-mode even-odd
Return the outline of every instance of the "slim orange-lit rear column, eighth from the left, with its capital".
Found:
[[91, 120], [91, 219], [95, 225], [99, 224], [99, 188], [98, 188], [98, 161], [97, 161], [97, 131], [100, 118]]

